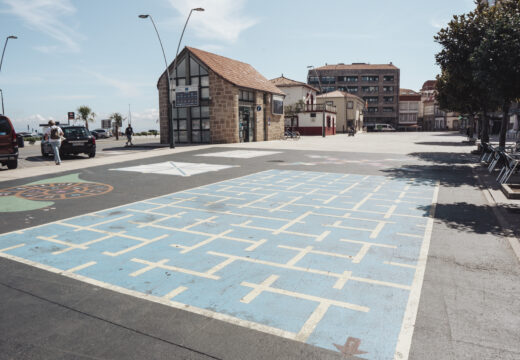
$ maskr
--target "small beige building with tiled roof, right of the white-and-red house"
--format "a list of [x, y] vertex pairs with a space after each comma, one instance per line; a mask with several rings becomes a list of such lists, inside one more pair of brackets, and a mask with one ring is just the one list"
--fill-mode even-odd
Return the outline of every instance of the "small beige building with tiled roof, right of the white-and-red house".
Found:
[[365, 102], [359, 96], [336, 90], [318, 95], [320, 104], [336, 107], [337, 132], [345, 133], [349, 128], [363, 131]]

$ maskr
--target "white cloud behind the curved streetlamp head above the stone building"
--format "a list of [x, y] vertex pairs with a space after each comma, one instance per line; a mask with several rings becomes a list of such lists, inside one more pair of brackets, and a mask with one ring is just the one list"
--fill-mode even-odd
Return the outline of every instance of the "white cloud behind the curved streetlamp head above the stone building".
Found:
[[170, 4], [181, 13], [176, 20], [182, 24], [191, 9], [204, 8], [204, 12], [192, 13], [190, 31], [206, 40], [234, 43], [241, 32], [258, 22], [244, 11], [245, 0], [170, 0]]

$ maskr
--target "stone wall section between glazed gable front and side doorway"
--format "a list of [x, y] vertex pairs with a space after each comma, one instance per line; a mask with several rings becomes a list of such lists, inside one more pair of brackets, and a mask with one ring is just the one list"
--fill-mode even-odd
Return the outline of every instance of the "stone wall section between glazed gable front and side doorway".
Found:
[[209, 108], [211, 142], [213, 144], [237, 143], [238, 88], [209, 71]]

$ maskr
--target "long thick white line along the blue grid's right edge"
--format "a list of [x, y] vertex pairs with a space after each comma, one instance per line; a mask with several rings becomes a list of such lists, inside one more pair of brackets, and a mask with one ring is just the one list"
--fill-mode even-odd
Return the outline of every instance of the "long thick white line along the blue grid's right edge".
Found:
[[397, 340], [395, 348], [395, 360], [407, 360], [410, 354], [410, 346], [412, 345], [412, 336], [415, 328], [415, 320], [417, 318], [417, 311], [419, 309], [419, 300], [421, 298], [421, 289], [424, 281], [424, 272], [426, 270], [426, 261], [428, 260], [428, 250], [430, 249], [430, 241], [433, 231], [433, 221], [435, 218], [435, 209], [437, 207], [437, 198], [439, 196], [439, 182], [435, 187], [432, 198], [432, 207], [430, 209], [430, 217], [426, 224], [426, 231], [424, 233], [424, 240], [419, 253], [417, 261], [417, 270], [412, 282], [410, 296], [408, 297], [408, 304], [403, 317], [401, 331]]

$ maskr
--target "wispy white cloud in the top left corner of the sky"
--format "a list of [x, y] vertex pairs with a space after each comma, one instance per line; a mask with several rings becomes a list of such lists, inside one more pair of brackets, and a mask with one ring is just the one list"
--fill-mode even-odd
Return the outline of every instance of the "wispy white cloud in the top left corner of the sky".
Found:
[[38, 46], [43, 52], [68, 51], [79, 52], [77, 39], [83, 38], [65, 25], [63, 18], [70, 17], [76, 8], [70, 0], [2, 0], [8, 6], [3, 13], [18, 16], [23, 23], [36, 31], [58, 40], [60, 46]]

